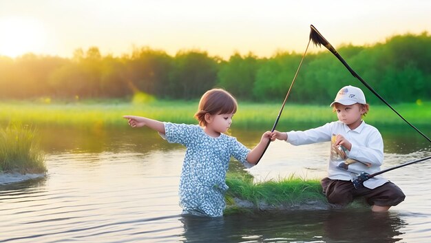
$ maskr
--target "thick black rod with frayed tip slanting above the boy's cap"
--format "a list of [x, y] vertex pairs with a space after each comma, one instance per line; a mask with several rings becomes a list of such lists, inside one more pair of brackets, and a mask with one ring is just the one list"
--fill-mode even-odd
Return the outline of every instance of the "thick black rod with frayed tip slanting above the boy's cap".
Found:
[[388, 107], [390, 109], [392, 109], [392, 111], [395, 112], [395, 114], [397, 114], [401, 119], [403, 119], [408, 125], [410, 125], [410, 127], [412, 127], [413, 129], [415, 129], [417, 132], [419, 132], [419, 134], [421, 134], [426, 140], [428, 140], [428, 142], [431, 142], [431, 139], [428, 138], [428, 136], [426, 136], [425, 134], [422, 133], [422, 131], [419, 131], [419, 129], [417, 129], [416, 127], [414, 127], [414, 125], [412, 125], [411, 123], [408, 122], [408, 120], [406, 120], [406, 118], [403, 118], [403, 116], [401, 116], [401, 114], [399, 114], [391, 105], [389, 105], [388, 102], [385, 101], [384, 98], [382, 98], [379, 94], [377, 94], [377, 92], [370, 86], [368, 85], [368, 83], [366, 83], [366, 81], [364, 81], [364, 79], [362, 79], [347, 63], [346, 61], [344, 61], [344, 59], [339, 55], [339, 53], [337, 52], [337, 50], [335, 50], [335, 48], [333, 47], [333, 45], [331, 45], [329, 43], [329, 41], [327, 41], [325, 39], [324, 36], [322, 36], [322, 34], [320, 34], [319, 31], [317, 31], [317, 29], [313, 26], [310, 25], [311, 28], [311, 32], [310, 32], [310, 39], [311, 41], [313, 41], [313, 43], [317, 46], [321, 46], [324, 45], [324, 47], [326, 47], [326, 49], [328, 49], [330, 52], [332, 52], [335, 56], [337, 56], [337, 59], [339, 61], [341, 61], [341, 63], [344, 64], [344, 66], [347, 67], [347, 69], [350, 71], [350, 73], [357, 79], [359, 79], [359, 81], [361, 81], [361, 83], [363, 83], [368, 89], [370, 89], [370, 91], [372, 92], [372, 94], [375, 94], [375, 96], [377, 96], [377, 98], [379, 98], [381, 101], [383, 101], [383, 103], [385, 103], [386, 105], [388, 105]]

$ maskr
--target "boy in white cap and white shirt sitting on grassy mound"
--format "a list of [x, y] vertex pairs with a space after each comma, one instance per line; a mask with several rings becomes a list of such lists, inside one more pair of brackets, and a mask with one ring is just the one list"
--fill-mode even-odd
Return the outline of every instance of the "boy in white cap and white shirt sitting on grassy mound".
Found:
[[383, 162], [383, 139], [379, 131], [361, 118], [368, 112], [364, 92], [346, 86], [339, 90], [330, 104], [338, 121], [306, 131], [273, 131], [271, 140], [286, 140], [291, 145], [307, 145], [331, 141], [328, 177], [321, 180], [323, 192], [332, 204], [346, 205], [363, 196], [372, 211], [388, 211], [406, 196], [392, 182], [376, 176], [355, 189], [352, 181], [359, 173], [380, 171]]

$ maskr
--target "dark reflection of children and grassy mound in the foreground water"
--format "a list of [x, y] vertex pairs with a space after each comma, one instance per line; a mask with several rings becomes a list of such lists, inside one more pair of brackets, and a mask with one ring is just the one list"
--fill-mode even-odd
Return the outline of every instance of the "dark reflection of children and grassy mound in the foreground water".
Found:
[[180, 218], [182, 242], [399, 242], [407, 225], [397, 213], [290, 211]]

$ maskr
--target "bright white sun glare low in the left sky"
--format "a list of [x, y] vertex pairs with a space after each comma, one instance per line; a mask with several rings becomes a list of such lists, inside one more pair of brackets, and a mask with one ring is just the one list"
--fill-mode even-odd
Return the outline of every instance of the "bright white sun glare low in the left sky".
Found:
[[17, 57], [43, 51], [46, 43], [43, 25], [33, 19], [0, 18], [0, 55]]

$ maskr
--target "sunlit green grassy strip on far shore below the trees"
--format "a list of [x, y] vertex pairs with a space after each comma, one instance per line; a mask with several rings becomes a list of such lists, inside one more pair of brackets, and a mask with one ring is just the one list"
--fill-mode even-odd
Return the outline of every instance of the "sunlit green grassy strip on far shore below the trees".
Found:
[[[63, 125], [83, 127], [124, 126], [122, 116], [133, 114], [174, 123], [196, 123], [193, 114], [198, 101], [154, 101], [131, 104], [118, 101], [103, 103], [45, 104], [24, 101], [0, 102], [0, 123], [20, 122], [32, 125]], [[429, 127], [431, 102], [393, 106], [410, 123]], [[272, 127], [280, 104], [240, 103], [234, 116], [235, 127]], [[322, 124], [336, 120], [328, 105], [287, 104], [280, 118], [280, 125], [300, 123]], [[403, 125], [404, 122], [386, 105], [371, 105], [365, 120], [373, 125]]]

